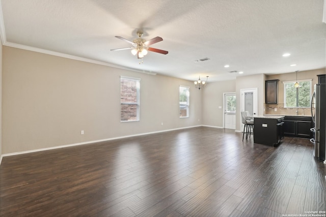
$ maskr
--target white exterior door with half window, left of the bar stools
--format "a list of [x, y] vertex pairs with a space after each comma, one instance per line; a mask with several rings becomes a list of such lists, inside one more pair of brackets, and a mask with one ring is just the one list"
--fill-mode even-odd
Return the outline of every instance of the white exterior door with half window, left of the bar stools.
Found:
[[235, 130], [236, 99], [235, 92], [224, 94], [224, 128]]

